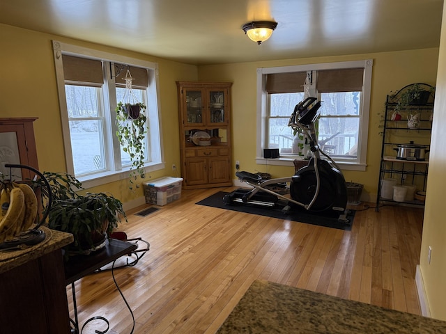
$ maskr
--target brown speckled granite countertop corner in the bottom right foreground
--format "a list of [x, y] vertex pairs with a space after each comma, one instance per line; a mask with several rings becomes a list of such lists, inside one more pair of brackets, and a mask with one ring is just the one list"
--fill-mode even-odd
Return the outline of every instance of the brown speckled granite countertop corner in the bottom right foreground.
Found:
[[446, 333], [446, 321], [255, 280], [219, 334]]

